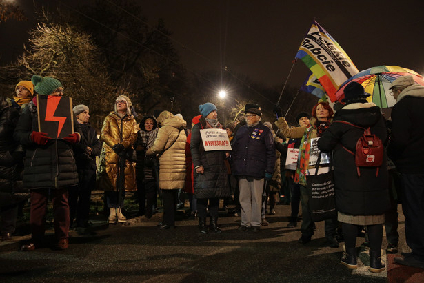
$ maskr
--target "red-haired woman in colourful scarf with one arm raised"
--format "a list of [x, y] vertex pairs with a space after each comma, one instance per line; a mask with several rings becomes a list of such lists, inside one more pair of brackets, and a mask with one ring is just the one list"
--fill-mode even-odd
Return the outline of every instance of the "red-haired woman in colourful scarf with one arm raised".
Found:
[[[307, 191], [306, 174], [307, 170], [314, 168], [314, 164], [310, 164], [312, 155], [312, 144], [316, 138], [321, 137], [324, 131], [330, 126], [333, 117], [333, 110], [327, 102], [320, 101], [312, 108], [312, 118], [310, 126], [299, 126], [289, 128], [283, 117], [280, 117], [276, 122], [276, 126], [283, 132], [286, 137], [299, 139], [301, 138], [301, 146], [299, 148], [299, 158], [297, 162], [296, 173], [294, 175], [294, 183], [299, 183], [301, 191], [301, 206], [302, 206], [302, 225], [301, 237], [299, 243], [307, 244], [312, 240], [314, 235], [314, 221], [312, 219], [312, 211], [309, 209], [309, 196]], [[316, 157], [319, 150], [316, 151]], [[322, 158], [321, 158], [322, 163]], [[336, 240], [337, 219], [325, 220], [325, 246], [338, 248], [339, 242]]]

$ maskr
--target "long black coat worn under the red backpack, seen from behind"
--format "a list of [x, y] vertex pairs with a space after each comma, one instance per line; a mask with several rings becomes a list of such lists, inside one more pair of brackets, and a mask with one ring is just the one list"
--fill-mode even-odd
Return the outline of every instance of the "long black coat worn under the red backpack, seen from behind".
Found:
[[[383, 144], [387, 143], [387, 129], [380, 108], [374, 103], [347, 104], [334, 115], [330, 128], [318, 141], [323, 153], [333, 152], [334, 189], [336, 208], [348, 215], [381, 215], [390, 208], [387, 159], [376, 176], [376, 167], [360, 167], [358, 176], [355, 157], [345, 148], [355, 152], [356, 142], [363, 129], [335, 121], [347, 121], [363, 128], [370, 127]], [[345, 148], [343, 148], [345, 146]]]

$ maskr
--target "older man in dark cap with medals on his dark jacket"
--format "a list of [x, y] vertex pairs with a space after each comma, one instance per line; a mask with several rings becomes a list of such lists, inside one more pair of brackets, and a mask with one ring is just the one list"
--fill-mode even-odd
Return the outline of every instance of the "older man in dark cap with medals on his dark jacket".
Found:
[[232, 172], [239, 179], [241, 222], [239, 231], [252, 227], [259, 232], [262, 222], [264, 179], [272, 178], [275, 165], [274, 137], [261, 122], [261, 107], [245, 106], [247, 124], [233, 139]]

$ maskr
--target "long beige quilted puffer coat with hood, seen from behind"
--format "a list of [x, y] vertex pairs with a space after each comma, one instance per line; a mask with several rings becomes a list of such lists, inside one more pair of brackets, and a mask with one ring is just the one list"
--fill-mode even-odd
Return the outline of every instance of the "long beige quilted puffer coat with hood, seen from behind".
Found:
[[146, 155], [159, 155], [159, 188], [174, 190], [185, 185], [185, 136], [187, 123], [168, 111], [157, 118], [161, 128]]

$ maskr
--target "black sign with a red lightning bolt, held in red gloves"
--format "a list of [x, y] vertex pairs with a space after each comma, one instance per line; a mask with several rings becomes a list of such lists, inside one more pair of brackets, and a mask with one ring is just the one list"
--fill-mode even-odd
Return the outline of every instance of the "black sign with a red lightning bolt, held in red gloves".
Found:
[[39, 132], [52, 139], [62, 139], [74, 133], [72, 98], [52, 95], [37, 95]]

